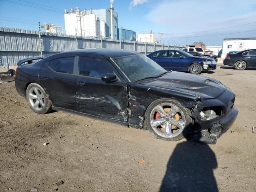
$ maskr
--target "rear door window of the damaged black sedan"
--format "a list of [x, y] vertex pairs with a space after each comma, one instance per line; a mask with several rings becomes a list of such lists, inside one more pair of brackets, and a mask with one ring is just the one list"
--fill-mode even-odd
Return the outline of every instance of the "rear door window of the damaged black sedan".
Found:
[[49, 67], [60, 73], [73, 74], [75, 57], [62, 57], [51, 60]]

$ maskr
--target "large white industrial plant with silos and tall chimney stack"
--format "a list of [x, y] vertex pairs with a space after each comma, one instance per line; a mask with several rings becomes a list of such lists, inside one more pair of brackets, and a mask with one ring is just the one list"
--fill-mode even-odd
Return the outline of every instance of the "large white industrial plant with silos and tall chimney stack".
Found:
[[109, 9], [80, 10], [76, 7], [64, 10], [65, 30], [67, 35], [102, 36], [118, 39], [118, 14], [113, 4]]

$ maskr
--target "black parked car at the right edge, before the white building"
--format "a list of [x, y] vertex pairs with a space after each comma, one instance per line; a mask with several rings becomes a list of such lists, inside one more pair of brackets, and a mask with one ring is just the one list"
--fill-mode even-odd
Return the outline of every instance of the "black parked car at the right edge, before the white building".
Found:
[[256, 68], [256, 49], [249, 49], [234, 54], [227, 54], [224, 65], [234, 66], [236, 70]]

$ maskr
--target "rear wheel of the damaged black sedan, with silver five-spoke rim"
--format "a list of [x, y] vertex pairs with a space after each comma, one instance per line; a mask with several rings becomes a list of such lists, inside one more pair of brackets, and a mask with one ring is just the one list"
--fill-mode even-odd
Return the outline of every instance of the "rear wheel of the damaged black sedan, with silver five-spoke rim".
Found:
[[[34, 91], [35, 89], [37, 90], [37, 92], [39, 90], [39, 97], [38, 94], [36, 94], [36, 92]], [[33, 97], [31, 96], [31, 94], [33, 95]], [[42, 88], [42, 86], [36, 83], [31, 83], [28, 85], [26, 89], [26, 99], [28, 105], [35, 113], [46, 114], [52, 111], [52, 102], [50, 101], [48, 94], [46, 94], [46, 91], [44, 90], [44, 88]], [[42, 100], [43, 102], [40, 100]], [[37, 104], [38, 108], [36, 108], [36, 102], [39, 102], [39, 104]], [[44, 104], [44, 106], [41, 104], [41, 102], [42, 104]]]

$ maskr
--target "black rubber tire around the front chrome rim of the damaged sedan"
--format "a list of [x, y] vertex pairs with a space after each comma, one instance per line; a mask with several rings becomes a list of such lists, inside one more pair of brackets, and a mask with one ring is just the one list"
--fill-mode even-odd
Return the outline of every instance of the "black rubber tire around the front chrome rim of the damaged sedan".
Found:
[[[178, 106], [180, 108], [180, 110], [182, 110], [182, 112], [186, 118], [185, 128], [183, 129], [183, 131], [179, 135], [172, 137], [172, 138], [165, 138], [165, 137], [160, 136], [159, 134], [157, 134], [154, 131], [154, 129], [152, 128], [152, 126], [150, 124], [150, 114], [151, 114], [152, 110], [159, 104], [167, 103], [167, 102]], [[183, 107], [182, 104], [180, 104], [180, 102], [178, 102], [174, 99], [162, 98], [162, 99], [152, 102], [148, 106], [148, 108], [146, 110], [146, 114], [145, 114], [144, 125], [146, 125], [146, 128], [152, 133], [152, 135], [155, 138], [162, 139], [162, 140], [168, 140], [168, 141], [178, 141], [178, 140], [185, 138], [188, 135], [188, 133], [190, 132], [190, 128], [192, 126], [192, 118], [190, 117], [190, 114], [191, 114], [190, 110], [188, 108]]]

